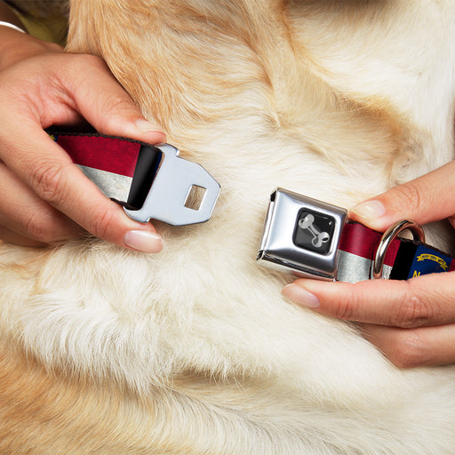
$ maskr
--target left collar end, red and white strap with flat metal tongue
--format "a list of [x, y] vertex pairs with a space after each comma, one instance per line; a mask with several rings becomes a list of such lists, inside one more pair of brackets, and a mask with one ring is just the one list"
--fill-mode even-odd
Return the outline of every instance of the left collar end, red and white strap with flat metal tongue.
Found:
[[212, 216], [220, 184], [200, 164], [180, 158], [177, 148], [97, 133], [48, 133], [133, 220], [180, 226]]

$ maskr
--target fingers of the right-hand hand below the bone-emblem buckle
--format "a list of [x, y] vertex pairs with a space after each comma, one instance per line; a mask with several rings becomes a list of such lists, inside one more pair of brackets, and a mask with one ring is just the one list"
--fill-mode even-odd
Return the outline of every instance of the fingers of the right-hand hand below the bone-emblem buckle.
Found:
[[362, 323], [364, 336], [397, 366], [445, 364], [455, 362], [453, 275], [354, 284], [299, 279], [283, 295], [323, 315]]

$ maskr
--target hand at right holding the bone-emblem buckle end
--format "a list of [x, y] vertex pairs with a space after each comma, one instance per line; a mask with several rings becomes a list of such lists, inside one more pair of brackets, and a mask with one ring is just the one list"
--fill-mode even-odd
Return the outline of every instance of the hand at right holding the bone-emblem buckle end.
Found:
[[[403, 219], [423, 225], [448, 218], [455, 228], [454, 176], [451, 162], [357, 205], [349, 216], [379, 232]], [[299, 279], [283, 295], [323, 315], [357, 322], [364, 337], [399, 367], [441, 365], [455, 363], [454, 274], [354, 284]]]

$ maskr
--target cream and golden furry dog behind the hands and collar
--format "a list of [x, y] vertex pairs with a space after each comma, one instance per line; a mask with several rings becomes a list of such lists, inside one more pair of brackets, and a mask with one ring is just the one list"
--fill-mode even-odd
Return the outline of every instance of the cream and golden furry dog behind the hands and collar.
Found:
[[[399, 369], [258, 267], [276, 187], [342, 207], [453, 157], [449, 0], [71, 0], [212, 220], [148, 255], [0, 248], [3, 454], [450, 454], [455, 369]], [[445, 243], [435, 232], [432, 241]], [[439, 239], [439, 240], [438, 240]]]

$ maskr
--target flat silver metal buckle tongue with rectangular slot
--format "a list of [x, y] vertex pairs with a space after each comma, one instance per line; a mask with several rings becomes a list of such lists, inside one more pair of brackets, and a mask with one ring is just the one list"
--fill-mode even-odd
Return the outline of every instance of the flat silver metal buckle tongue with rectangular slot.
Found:
[[[179, 156], [170, 144], [154, 146], [162, 152], [144, 204], [138, 210], [124, 208], [133, 220], [161, 220], [173, 226], [203, 223], [210, 220], [220, 195], [220, 184], [200, 164]], [[197, 193], [197, 204], [189, 204]]]

